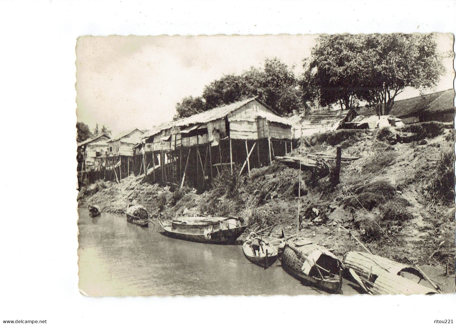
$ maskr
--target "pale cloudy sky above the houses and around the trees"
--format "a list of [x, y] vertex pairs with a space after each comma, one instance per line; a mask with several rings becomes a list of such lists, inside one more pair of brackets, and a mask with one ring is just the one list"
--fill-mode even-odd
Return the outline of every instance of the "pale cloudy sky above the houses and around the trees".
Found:
[[[317, 36], [86, 36], [78, 39], [77, 117], [93, 129], [105, 124], [113, 135], [138, 127], [150, 129], [170, 120], [183, 97], [200, 96], [223, 74], [262, 67], [278, 57], [295, 65], [310, 56]], [[452, 51], [451, 34], [439, 34], [438, 50]], [[451, 58], [433, 91], [453, 87]], [[407, 89], [397, 99], [418, 95]]]

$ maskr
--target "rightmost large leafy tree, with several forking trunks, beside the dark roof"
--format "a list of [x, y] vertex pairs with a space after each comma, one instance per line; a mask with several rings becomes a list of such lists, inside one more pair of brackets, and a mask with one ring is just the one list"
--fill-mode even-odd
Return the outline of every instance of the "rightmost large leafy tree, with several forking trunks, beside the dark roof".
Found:
[[434, 34], [366, 35], [358, 96], [378, 114], [389, 114], [405, 87], [433, 87], [445, 72]]

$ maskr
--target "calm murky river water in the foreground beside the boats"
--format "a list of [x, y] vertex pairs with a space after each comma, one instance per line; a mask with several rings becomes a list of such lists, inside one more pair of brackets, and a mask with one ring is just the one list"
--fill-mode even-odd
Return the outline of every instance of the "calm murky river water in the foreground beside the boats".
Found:
[[[301, 284], [277, 261], [263, 269], [241, 245], [187, 242], [123, 215], [79, 209], [79, 288], [91, 296], [326, 294]], [[356, 293], [344, 284], [345, 293]]]

